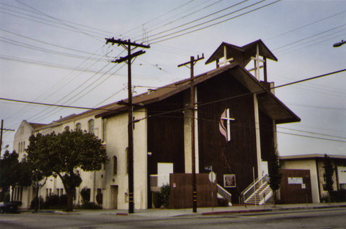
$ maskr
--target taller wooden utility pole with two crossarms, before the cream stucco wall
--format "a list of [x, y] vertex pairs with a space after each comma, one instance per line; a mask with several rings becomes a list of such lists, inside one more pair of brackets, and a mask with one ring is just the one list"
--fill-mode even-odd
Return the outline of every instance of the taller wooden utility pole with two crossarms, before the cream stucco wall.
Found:
[[127, 63], [127, 78], [128, 78], [128, 95], [129, 99], [127, 101], [127, 109], [128, 109], [128, 115], [129, 115], [129, 123], [127, 125], [127, 132], [128, 132], [128, 148], [127, 148], [127, 161], [129, 163], [129, 213], [134, 213], [134, 133], [133, 133], [133, 106], [132, 106], [132, 83], [131, 83], [131, 59], [137, 57], [138, 55], [142, 55], [145, 53], [145, 51], [138, 51], [136, 53], [131, 54], [131, 46], [134, 46], [135, 48], [150, 48], [150, 46], [144, 45], [144, 44], [136, 44], [136, 42], [131, 42], [130, 39], [121, 40], [121, 39], [114, 39], [113, 38], [106, 38], [106, 44], [111, 43], [118, 44], [118, 46], [122, 46], [127, 50], [127, 56], [126, 57], [120, 57], [119, 59], [116, 59], [115, 61], [112, 61], [113, 63], [121, 63], [126, 62]]

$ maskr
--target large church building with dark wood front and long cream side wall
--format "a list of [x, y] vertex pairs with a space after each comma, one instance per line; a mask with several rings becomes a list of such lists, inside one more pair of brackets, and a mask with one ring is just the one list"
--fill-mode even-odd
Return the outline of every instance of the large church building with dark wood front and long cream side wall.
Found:
[[[224, 66], [220, 66], [220, 59], [224, 59]], [[276, 125], [300, 121], [273, 94], [273, 83], [267, 81], [267, 59], [277, 60], [261, 40], [242, 47], [222, 43], [206, 62], [216, 61], [217, 68], [194, 77], [196, 171], [207, 172], [204, 168], [212, 165], [217, 182], [232, 194], [233, 203], [239, 203], [242, 191], [254, 178], [268, 172], [266, 161], [276, 143]], [[255, 68], [248, 69], [251, 62]], [[86, 111], [33, 132], [93, 129], [103, 140], [110, 161], [99, 172], [81, 172], [80, 189], [89, 187], [94, 202], [97, 192], [102, 192], [106, 209], [128, 208], [128, 116], [124, 102], [102, 107], [111, 111]], [[133, 103], [134, 203], [136, 209], [152, 208], [152, 176], [164, 180], [170, 173], [192, 172], [190, 79], [137, 95]], [[61, 188], [59, 178], [52, 178], [43, 190], [50, 194]]]

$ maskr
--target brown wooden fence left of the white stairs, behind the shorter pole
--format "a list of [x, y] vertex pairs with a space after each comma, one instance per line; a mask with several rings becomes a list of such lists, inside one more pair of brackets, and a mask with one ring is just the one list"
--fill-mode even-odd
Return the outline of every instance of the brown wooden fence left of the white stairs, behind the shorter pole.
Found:
[[[210, 183], [208, 174], [196, 174], [197, 207], [217, 205], [217, 185]], [[170, 174], [170, 208], [192, 208], [192, 174]]]

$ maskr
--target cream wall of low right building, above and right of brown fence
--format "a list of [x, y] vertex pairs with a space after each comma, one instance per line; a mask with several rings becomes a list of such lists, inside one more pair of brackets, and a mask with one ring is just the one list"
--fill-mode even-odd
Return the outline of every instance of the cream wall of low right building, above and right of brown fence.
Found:
[[314, 159], [284, 161], [281, 168], [284, 170], [310, 170], [312, 202], [320, 203], [320, 195], [318, 193], [318, 170]]

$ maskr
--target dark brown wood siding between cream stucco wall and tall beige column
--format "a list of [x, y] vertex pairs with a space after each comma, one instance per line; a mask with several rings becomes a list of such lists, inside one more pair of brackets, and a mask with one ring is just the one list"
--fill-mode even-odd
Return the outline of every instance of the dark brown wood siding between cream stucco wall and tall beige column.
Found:
[[147, 107], [148, 116], [153, 116], [147, 120], [147, 150], [152, 153], [147, 157], [148, 208], [152, 208], [149, 175], [157, 174], [157, 163], [173, 163], [174, 173], [185, 172], [183, 111], [165, 113], [182, 107], [182, 93]]

